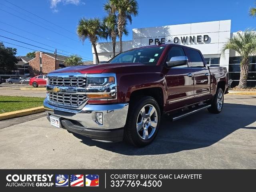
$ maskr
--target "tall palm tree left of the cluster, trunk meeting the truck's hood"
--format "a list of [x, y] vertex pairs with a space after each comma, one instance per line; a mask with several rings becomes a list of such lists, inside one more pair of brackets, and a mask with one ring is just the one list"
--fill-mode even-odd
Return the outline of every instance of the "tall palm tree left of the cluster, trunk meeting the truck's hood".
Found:
[[96, 64], [99, 63], [99, 56], [96, 49], [98, 39], [101, 35], [101, 22], [99, 18], [81, 18], [78, 22], [76, 32], [78, 37], [84, 42], [87, 38], [92, 43], [96, 56]]

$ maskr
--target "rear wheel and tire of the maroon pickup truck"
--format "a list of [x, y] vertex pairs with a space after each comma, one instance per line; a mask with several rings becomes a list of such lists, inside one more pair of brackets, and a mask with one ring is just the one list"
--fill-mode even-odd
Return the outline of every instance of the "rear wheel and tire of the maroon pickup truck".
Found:
[[218, 88], [213, 100], [212, 100], [212, 106], [208, 108], [208, 111], [210, 113], [220, 113], [222, 111], [224, 104], [224, 93], [222, 88]]

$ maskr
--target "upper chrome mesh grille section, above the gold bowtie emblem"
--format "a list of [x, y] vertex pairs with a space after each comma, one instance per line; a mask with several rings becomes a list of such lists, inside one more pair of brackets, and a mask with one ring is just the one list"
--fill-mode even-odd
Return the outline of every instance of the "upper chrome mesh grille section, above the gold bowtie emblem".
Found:
[[48, 77], [48, 84], [54, 86], [86, 87], [86, 77]]

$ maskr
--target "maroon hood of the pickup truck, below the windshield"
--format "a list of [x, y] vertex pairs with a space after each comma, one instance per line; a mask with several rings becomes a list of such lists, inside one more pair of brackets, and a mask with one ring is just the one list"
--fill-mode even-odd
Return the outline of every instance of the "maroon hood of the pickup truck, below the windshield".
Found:
[[127, 67], [127, 66], [140, 66], [142, 63], [111, 63], [111, 64], [92, 64], [92, 65], [80, 65], [66, 67], [52, 71], [50, 73], [62, 73], [62, 72], [80, 72], [80, 73], [103, 73], [105, 70]]

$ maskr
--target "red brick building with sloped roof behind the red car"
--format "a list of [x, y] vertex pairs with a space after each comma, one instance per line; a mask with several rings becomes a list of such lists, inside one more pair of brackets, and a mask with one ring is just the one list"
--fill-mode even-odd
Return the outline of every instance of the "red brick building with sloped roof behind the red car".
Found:
[[65, 67], [63, 62], [66, 56], [56, 55], [56, 66], [55, 66], [55, 54], [48, 52], [37, 51], [36, 57], [29, 61], [28, 70], [31, 77], [48, 74], [49, 72]]

